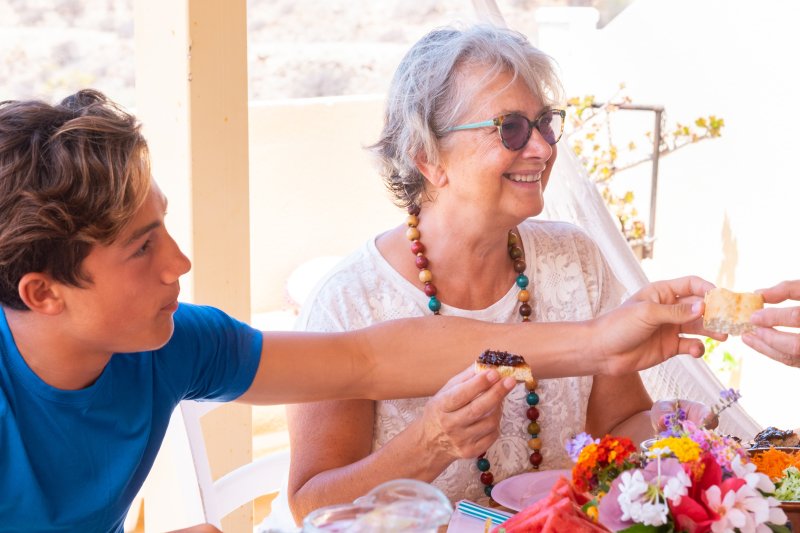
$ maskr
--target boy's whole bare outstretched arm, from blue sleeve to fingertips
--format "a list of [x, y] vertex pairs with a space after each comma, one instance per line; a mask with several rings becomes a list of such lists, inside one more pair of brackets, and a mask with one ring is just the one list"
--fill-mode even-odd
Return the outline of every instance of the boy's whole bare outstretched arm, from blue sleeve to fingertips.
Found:
[[621, 375], [679, 353], [700, 357], [702, 297], [686, 277], [651, 283], [619, 308], [584, 322], [494, 324], [428, 316], [345, 333], [264, 333], [261, 363], [239, 401], [294, 403], [435, 393], [485, 349], [522, 355], [537, 378]]

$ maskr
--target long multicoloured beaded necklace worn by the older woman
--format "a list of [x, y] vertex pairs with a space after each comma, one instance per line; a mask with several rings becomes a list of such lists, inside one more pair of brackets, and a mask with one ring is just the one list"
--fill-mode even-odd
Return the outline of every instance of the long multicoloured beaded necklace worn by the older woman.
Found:
[[[420, 232], [417, 228], [419, 225], [419, 213], [420, 208], [417, 205], [412, 205], [408, 208], [408, 218], [406, 219], [408, 230], [406, 230], [406, 238], [411, 241], [411, 253], [414, 254], [415, 263], [419, 269], [419, 281], [423, 284], [422, 290], [425, 292], [425, 295], [430, 298], [430, 300], [428, 300], [428, 309], [433, 311], [433, 314], [438, 315], [439, 310], [442, 308], [442, 303], [436, 297], [438, 291], [436, 286], [433, 284], [433, 275], [428, 268], [428, 258], [425, 257], [425, 246], [420, 241]], [[519, 314], [522, 317], [523, 322], [529, 322], [532, 308], [528, 302], [530, 301], [531, 295], [527, 289], [528, 276], [525, 275], [526, 264], [522, 255], [523, 253], [522, 248], [520, 247], [519, 237], [516, 233], [509, 230], [508, 256], [511, 258], [511, 262], [514, 265], [514, 272], [517, 273], [516, 284], [517, 287], [519, 287], [519, 293], [517, 294], [517, 301], [520, 303]], [[530, 435], [530, 439], [528, 440], [528, 448], [531, 449], [529, 460], [531, 467], [534, 470], [538, 470], [539, 465], [542, 464], [542, 439], [539, 437], [539, 431], [541, 428], [538, 422], [539, 410], [536, 408], [536, 406], [539, 404], [539, 395], [536, 394], [537, 385], [538, 383], [536, 379], [525, 383], [525, 387], [528, 390], [528, 394], [525, 397], [525, 402], [528, 406], [526, 415], [530, 421], [526, 428], [528, 434]], [[491, 468], [491, 464], [486, 458], [486, 452], [478, 456], [476, 464], [478, 470], [481, 472], [480, 480], [484, 485], [483, 492], [486, 494], [486, 496], [489, 496], [490, 503], [495, 503], [494, 500], [491, 499], [492, 489], [494, 488], [494, 474], [492, 474], [492, 472], [489, 470]]]

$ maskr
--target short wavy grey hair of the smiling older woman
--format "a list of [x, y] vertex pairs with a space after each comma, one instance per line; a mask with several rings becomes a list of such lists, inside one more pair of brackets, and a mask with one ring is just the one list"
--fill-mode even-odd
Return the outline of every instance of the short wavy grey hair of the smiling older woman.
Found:
[[478, 87], [464, 87], [459, 73], [469, 65], [488, 66], [484, 82], [502, 72], [521, 78], [545, 106], [563, 101], [561, 82], [552, 59], [519, 32], [490, 25], [431, 31], [408, 51], [392, 79], [384, 126], [368, 149], [377, 157], [379, 171], [394, 202], [418, 206], [425, 178], [415, 158], [424, 151], [436, 164], [439, 143], [455, 126], [463, 107]]

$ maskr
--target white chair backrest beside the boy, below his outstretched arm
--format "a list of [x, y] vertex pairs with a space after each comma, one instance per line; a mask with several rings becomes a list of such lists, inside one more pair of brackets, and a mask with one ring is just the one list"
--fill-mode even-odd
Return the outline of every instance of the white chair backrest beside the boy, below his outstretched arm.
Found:
[[240, 506], [282, 489], [289, 471], [289, 450], [272, 452], [225, 474], [216, 481], [203, 437], [201, 419], [220, 405], [218, 402], [182, 401], [181, 413], [189, 439], [205, 520], [219, 528], [222, 519]]

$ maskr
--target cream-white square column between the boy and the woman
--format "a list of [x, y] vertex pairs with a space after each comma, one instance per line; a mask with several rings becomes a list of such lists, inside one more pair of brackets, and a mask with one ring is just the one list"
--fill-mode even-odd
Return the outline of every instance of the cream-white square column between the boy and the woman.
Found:
[[[154, 177], [169, 199], [167, 225], [193, 262], [182, 300], [249, 321], [246, 2], [136, 0], [135, 28], [136, 113]], [[205, 427], [216, 477], [252, 456], [250, 409], [225, 409], [213, 428]], [[148, 483], [148, 531], [192, 519], [176, 516], [170, 503], [182, 490], [171, 458], [188, 453], [179, 440], [165, 442], [152, 476], [158, 482]], [[251, 509], [230, 515], [225, 531], [246, 531], [251, 516]]]

